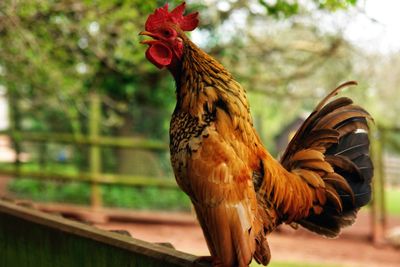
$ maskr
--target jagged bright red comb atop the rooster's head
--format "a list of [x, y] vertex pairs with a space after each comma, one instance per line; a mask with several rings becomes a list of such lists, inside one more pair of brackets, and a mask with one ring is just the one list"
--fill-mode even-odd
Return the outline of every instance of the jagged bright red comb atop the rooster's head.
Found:
[[184, 16], [185, 2], [177, 6], [171, 12], [168, 12], [168, 3], [163, 7], [159, 7], [151, 14], [146, 21], [146, 31], [154, 31], [165, 22], [172, 22], [181, 28], [183, 31], [193, 31], [199, 24], [198, 12], [190, 13]]

